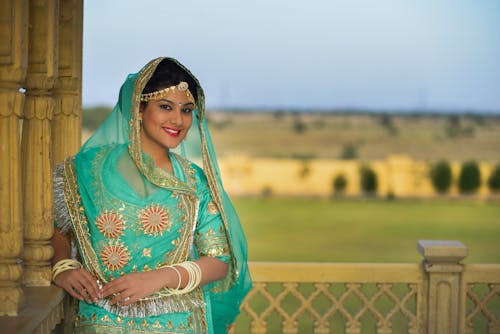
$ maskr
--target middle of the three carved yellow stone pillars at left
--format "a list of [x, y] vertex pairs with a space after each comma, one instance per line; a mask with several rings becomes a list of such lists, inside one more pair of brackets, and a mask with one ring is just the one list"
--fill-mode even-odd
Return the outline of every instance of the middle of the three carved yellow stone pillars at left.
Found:
[[26, 105], [22, 134], [24, 274], [26, 286], [51, 281], [53, 227], [51, 119], [57, 78], [59, 2], [30, 0]]

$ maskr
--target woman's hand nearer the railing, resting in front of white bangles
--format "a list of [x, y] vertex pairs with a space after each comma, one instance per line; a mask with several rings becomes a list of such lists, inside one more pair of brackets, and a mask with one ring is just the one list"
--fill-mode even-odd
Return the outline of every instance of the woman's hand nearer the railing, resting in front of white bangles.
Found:
[[165, 273], [159, 270], [131, 273], [106, 284], [102, 296], [106, 298], [115, 295], [111, 299], [112, 305], [127, 306], [164, 287], [167, 282], [165, 276]]

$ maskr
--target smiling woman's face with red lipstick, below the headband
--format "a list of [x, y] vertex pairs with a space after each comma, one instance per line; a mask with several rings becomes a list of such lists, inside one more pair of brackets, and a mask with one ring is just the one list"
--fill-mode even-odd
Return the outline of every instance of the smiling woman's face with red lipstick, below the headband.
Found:
[[141, 144], [145, 152], [177, 147], [193, 123], [194, 104], [185, 91], [174, 89], [141, 108]]

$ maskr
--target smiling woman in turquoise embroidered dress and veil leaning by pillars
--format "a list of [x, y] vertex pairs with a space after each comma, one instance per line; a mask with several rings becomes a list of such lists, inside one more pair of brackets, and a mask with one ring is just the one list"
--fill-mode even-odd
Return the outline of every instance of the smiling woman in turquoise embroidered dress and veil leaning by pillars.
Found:
[[79, 300], [75, 332], [224, 333], [236, 318], [246, 240], [204, 116], [196, 78], [154, 59], [56, 168], [53, 281]]

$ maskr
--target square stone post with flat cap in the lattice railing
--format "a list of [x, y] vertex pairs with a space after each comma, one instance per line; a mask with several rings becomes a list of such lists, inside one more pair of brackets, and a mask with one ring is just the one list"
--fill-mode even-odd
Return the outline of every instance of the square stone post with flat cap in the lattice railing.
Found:
[[427, 279], [427, 334], [459, 332], [460, 281], [467, 247], [459, 241], [419, 240]]

